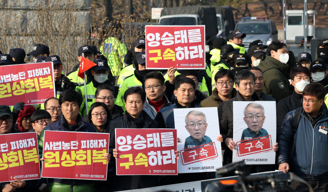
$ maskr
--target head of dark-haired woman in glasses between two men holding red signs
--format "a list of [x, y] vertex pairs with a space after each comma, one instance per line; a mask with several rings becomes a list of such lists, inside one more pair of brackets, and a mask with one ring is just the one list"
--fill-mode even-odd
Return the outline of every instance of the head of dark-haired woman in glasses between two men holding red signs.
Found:
[[111, 120], [110, 111], [106, 104], [95, 102], [90, 106], [88, 113], [89, 122], [92, 123], [97, 132], [106, 132]]

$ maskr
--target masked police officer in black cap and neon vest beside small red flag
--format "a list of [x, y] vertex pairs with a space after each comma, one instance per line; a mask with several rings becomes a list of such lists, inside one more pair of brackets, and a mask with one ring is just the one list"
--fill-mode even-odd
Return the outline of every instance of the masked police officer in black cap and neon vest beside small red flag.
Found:
[[[94, 93], [99, 85], [109, 85], [111, 84], [108, 80], [109, 66], [105, 60], [95, 59], [94, 63], [97, 64], [91, 70], [91, 81], [86, 85], [87, 94], [85, 93], [84, 85], [80, 85], [82, 91], [82, 96], [85, 102], [85, 97], [87, 95], [88, 109], [95, 102]], [[82, 103], [80, 107], [80, 113], [82, 116], [87, 114], [85, 104]]]

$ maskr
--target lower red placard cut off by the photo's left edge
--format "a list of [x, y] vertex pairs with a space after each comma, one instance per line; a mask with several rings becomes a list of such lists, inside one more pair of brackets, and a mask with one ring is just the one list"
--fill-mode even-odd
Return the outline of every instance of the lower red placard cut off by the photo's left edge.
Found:
[[0, 134], [0, 182], [40, 179], [37, 134]]

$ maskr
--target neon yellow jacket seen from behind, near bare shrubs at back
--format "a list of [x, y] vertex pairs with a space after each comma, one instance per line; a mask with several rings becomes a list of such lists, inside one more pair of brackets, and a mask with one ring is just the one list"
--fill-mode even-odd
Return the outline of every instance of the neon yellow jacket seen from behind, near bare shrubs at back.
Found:
[[102, 43], [99, 51], [107, 58], [113, 76], [118, 76], [123, 67], [124, 56], [127, 52], [125, 44], [120, 43], [115, 37], [109, 37]]

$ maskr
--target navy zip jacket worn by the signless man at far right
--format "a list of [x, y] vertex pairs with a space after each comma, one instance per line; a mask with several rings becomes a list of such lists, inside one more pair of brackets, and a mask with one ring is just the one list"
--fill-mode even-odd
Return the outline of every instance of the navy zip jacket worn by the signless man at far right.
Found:
[[278, 137], [278, 165], [288, 163], [290, 171], [303, 178], [309, 175], [327, 178], [328, 134], [319, 131], [319, 129], [328, 130], [327, 110], [321, 107], [320, 113], [313, 122], [313, 119], [302, 109], [299, 127], [294, 135], [292, 124], [295, 112], [296, 110], [288, 112], [281, 126]]

